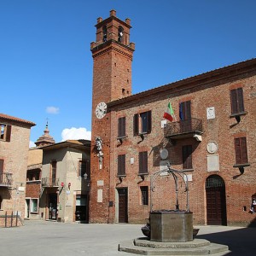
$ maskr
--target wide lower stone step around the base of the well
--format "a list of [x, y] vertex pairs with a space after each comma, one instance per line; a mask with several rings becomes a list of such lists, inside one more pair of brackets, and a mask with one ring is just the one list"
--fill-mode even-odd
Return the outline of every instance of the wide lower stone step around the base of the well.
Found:
[[144, 247], [136, 246], [134, 240], [130, 240], [120, 242], [119, 251], [140, 255], [216, 255], [218, 253], [228, 253], [229, 247], [217, 243], [210, 243], [203, 247]]

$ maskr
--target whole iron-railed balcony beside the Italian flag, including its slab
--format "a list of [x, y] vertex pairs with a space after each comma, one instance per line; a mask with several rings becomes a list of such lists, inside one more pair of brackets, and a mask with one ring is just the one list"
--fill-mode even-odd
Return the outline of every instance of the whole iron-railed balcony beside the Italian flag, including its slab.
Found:
[[173, 140], [195, 137], [201, 141], [202, 133], [202, 120], [195, 118], [168, 123], [164, 128], [164, 136]]

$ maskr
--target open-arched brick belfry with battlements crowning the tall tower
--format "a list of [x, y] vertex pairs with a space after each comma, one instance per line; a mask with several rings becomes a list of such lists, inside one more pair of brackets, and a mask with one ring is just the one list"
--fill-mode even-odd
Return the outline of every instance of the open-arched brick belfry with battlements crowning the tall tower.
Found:
[[118, 42], [125, 47], [135, 49], [135, 44], [130, 43], [131, 20], [126, 18], [125, 21], [119, 20], [116, 11], [112, 9], [107, 19], [97, 18], [96, 24], [96, 42], [90, 44], [91, 51], [100, 44], [109, 42]]

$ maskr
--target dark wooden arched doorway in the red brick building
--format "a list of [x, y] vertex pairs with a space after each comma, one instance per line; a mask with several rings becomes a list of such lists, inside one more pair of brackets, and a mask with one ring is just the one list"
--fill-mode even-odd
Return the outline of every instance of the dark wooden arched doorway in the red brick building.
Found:
[[222, 177], [211, 175], [206, 181], [207, 224], [226, 225], [226, 192]]

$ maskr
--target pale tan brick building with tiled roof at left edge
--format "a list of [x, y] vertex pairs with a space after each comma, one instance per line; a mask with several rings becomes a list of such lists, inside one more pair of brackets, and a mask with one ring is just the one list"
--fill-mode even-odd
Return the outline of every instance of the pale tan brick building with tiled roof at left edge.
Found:
[[[31, 127], [34, 123], [0, 113], [0, 208], [25, 216], [26, 167]], [[3, 225], [4, 220], [0, 218]]]

